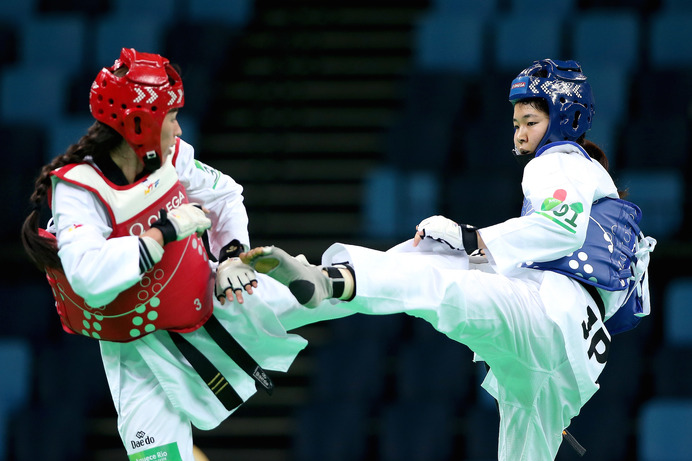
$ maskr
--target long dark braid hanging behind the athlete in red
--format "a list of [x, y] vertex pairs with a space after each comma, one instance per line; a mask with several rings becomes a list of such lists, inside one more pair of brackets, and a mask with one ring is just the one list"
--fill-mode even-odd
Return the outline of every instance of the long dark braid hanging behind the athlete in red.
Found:
[[33, 209], [24, 220], [21, 231], [24, 250], [39, 269], [62, 267], [56, 240], [39, 235], [41, 207], [47, 201], [52, 186], [51, 172], [65, 165], [82, 163], [87, 156], [98, 159], [109, 155], [122, 142], [123, 138], [117, 131], [97, 121], [89, 127], [86, 134], [76, 144], [72, 144], [64, 154], [55, 157], [41, 168], [30, 199]]

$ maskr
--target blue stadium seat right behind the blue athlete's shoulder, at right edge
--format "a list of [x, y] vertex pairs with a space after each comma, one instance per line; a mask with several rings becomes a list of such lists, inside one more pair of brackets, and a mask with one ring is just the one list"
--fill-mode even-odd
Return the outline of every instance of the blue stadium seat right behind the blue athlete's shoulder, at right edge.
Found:
[[627, 189], [627, 200], [642, 210], [639, 223], [646, 235], [659, 241], [674, 235], [682, 222], [680, 202], [684, 182], [679, 169], [620, 170], [619, 187]]

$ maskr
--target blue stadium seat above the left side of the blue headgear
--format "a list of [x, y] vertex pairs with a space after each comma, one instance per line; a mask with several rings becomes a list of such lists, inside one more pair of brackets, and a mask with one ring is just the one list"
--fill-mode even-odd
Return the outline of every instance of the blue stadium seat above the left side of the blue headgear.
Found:
[[[540, 26], [528, 26], [537, 22], [540, 22]], [[505, 13], [495, 19], [492, 29], [495, 38], [492, 64], [501, 72], [516, 75], [535, 60], [560, 59], [559, 56], [562, 56], [563, 25], [557, 14], [526, 11]]]

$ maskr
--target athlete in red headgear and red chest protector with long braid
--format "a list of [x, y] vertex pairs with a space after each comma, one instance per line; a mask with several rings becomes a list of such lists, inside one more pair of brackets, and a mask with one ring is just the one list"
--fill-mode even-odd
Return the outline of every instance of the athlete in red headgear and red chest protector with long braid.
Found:
[[242, 187], [180, 139], [183, 104], [167, 59], [123, 49], [91, 86], [96, 122], [43, 168], [22, 229], [64, 329], [100, 340], [130, 460], [192, 461], [191, 425], [212, 429], [271, 393], [265, 368], [286, 371], [306, 345], [284, 325], [314, 321], [291, 318], [305, 309], [278, 283], [243, 298], [257, 282], [238, 258]]

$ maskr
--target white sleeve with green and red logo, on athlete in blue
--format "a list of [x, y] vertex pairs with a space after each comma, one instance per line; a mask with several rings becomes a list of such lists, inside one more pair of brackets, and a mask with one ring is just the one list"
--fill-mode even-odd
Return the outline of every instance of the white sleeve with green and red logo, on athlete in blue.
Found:
[[559, 151], [546, 151], [528, 163], [522, 188], [533, 213], [479, 230], [498, 272], [508, 274], [523, 262], [552, 261], [581, 248], [591, 204], [600, 198], [602, 178], [592, 163], [597, 162], [580, 153]]

